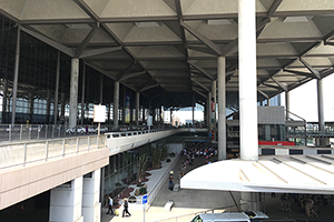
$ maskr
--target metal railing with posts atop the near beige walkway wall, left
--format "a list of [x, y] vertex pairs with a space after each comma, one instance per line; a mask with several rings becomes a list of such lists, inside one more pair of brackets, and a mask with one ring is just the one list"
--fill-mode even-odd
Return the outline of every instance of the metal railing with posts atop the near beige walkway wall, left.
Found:
[[0, 143], [0, 170], [105, 147], [105, 135]]

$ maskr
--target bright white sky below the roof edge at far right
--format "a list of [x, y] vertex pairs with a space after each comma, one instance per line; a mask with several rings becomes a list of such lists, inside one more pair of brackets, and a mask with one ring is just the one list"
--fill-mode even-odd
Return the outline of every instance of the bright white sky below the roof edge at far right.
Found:
[[[334, 121], [334, 74], [323, 79], [324, 118]], [[282, 93], [282, 105], [285, 105], [285, 93]], [[304, 118], [307, 122], [317, 122], [316, 80], [312, 80], [289, 92], [291, 112]]]

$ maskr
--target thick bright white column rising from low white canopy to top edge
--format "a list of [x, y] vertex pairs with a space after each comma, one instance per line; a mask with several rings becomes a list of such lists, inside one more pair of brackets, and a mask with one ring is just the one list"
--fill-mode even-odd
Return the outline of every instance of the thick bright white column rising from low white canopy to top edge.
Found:
[[258, 160], [255, 0], [239, 0], [240, 159]]

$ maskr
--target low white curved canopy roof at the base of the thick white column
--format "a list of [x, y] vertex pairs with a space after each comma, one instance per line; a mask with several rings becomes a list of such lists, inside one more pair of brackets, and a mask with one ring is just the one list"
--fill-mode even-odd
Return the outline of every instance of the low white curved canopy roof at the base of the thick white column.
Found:
[[183, 189], [245, 192], [334, 192], [334, 155], [261, 157], [258, 161], [226, 160], [188, 172]]

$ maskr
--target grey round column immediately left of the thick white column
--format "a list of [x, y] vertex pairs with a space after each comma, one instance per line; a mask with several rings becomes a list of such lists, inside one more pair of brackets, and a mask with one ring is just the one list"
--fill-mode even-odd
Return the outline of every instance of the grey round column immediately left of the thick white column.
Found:
[[226, 60], [218, 57], [218, 160], [226, 160]]

